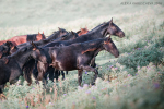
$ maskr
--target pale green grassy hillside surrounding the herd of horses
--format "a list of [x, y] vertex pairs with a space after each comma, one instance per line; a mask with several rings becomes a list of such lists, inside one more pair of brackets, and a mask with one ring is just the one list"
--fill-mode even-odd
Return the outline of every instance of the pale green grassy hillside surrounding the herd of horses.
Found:
[[93, 72], [83, 73], [82, 87], [78, 86], [77, 71], [71, 71], [65, 81], [48, 81], [47, 92], [35, 83], [20, 85], [20, 77], [16, 84], [7, 84], [8, 99], [0, 99], [0, 109], [163, 109], [164, 2], [145, 0], [153, 2], [149, 5], [125, 5], [122, 2], [1, 0], [1, 39], [43, 31], [48, 37], [57, 27], [78, 31], [87, 26], [92, 29], [110, 17], [126, 37], [112, 36], [120, 51], [119, 58], [106, 51], [96, 57], [99, 75], [95, 86], [90, 85]]

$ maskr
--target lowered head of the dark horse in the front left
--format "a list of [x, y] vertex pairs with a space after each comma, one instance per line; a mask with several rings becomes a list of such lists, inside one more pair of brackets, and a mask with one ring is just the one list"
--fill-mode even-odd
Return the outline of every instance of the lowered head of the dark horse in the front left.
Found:
[[31, 43], [31, 45], [33, 46], [33, 52], [32, 52], [32, 57], [37, 60], [37, 61], [42, 61], [43, 63], [49, 63], [51, 62], [51, 58], [48, 55], [47, 51], [45, 51], [45, 49], [39, 48], [38, 46], [36, 46], [33, 41]]

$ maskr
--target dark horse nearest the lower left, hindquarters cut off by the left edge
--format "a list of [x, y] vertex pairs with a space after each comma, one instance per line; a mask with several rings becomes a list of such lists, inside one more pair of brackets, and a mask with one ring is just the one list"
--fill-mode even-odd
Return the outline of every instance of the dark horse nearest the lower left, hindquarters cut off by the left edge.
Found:
[[[9, 82], [10, 84], [16, 83], [19, 76], [23, 75], [23, 71], [25, 75], [28, 75], [35, 64], [35, 60], [31, 60], [31, 58], [38, 60], [37, 57], [33, 56], [33, 52], [35, 50], [43, 52], [42, 49], [39, 49], [35, 44], [32, 43], [31, 46], [22, 48], [9, 57], [3, 57], [2, 59], [0, 59], [0, 93], [2, 93], [2, 86], [4, 86], [7, 82]], [[43, 58], [43, 60], [38, 61], [46, 63], [45, 57]], [[25, 64], [28, 66], [24, 68]], [[28, 80], [28, 82], [31, 83], [31, 80]]]

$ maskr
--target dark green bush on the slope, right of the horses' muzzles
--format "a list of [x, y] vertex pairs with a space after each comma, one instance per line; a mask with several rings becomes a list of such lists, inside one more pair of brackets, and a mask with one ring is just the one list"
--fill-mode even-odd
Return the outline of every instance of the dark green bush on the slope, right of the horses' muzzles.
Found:
[[155, 47], [138, 48], [131, 53], [118, 58], [118, 62], [128, 68], [137, 70], [138, 66], [145, 66], [150, 62], [159, 64], [162, 62], [163, 52]]

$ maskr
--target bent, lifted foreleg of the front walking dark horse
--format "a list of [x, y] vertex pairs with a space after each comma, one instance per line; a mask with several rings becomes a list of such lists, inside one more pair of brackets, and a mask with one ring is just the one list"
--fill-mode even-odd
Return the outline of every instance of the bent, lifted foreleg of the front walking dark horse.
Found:
[[90, 65], [82, 65], [81, 66], [82, 70], [86, 70], [86, 71], [91, 71], [91, 72], [94, 72], [95, 75], [94, 75], [94, 82], [92, 83], [92, 85], [94, 85], [95, 83], [95, 80], [97, 78], [97, 75], [98, 75], [98, 71]]

